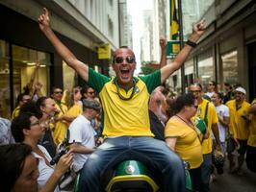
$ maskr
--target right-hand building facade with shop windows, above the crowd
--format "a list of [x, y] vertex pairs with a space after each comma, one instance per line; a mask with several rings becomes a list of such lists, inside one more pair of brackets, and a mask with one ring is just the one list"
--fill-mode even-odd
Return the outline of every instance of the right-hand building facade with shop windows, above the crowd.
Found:
[[206, 33], [185, 63], [186, 85], [206, 87], [213, 80], [221, 90], [224, 83], [241, 84], [251, 101], [256, 96], [256, 2], [216, 0], [201, 18]]

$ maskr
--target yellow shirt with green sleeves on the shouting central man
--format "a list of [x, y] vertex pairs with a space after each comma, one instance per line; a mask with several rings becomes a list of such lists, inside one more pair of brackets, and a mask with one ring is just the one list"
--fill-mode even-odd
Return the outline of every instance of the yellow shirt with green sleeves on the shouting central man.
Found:
[[135, 85], [126, 91], [119, 87], [115, 78], [108, 78], [89, 69], [88, 84], [99, 93], [103, 108], [103, 135], [108, 136], [154, 136], [150, 131], [148, 100], [150, 93], [161, 84], [160, 71], [134, 78]]

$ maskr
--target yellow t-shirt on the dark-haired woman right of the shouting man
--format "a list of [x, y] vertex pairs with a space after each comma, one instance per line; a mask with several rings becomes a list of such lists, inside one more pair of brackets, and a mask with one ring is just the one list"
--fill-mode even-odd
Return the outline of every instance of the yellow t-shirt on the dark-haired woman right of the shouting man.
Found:
[[192, 169], [201, 165], [202, 145], [194, 128], [173, 116], [166, 124], [165, 137], [177, 137], [175, 152], [183, 160], [188, 161]]

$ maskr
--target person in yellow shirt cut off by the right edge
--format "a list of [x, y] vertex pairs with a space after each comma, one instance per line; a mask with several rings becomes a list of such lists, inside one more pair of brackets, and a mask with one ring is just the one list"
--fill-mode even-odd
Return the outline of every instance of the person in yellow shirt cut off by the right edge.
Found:
[[250, 114], [250, 125], [245, 161], [247, 168], [256, 172], [256, 98], [248, 108], [248, 113]]

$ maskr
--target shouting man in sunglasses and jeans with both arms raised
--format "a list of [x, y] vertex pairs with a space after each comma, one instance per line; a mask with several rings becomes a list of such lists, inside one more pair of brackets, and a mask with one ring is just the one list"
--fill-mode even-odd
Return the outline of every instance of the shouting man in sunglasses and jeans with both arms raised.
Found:
[[134, 77], [136, 58], [130, 48], [116, 49], [112, 64], [116, 77], [109, 78], [93, 71], [64, 46], [51, 29], [49, 17], [49, 12], [44, 8], [38, 17], [41, 32], [68, 66], [99, 94], [103, 108], [105, 140], [90, 155], [81, 170], [79, 191], [99, 191], [102, 170], [124, 156], [140, 157], [149, 166], [157, 167], [157, 171], [163, 173], [162, 191], [185, 191], [185, 170], [181, 158], [169, 150], [164, 141], [154, 139], [150, 131], [148, 100], [150, 93], [189, 57], [196, 41], [204, 34], [204, 20], [193, 26], [192, 36], [170, 64], [147, 76]]

